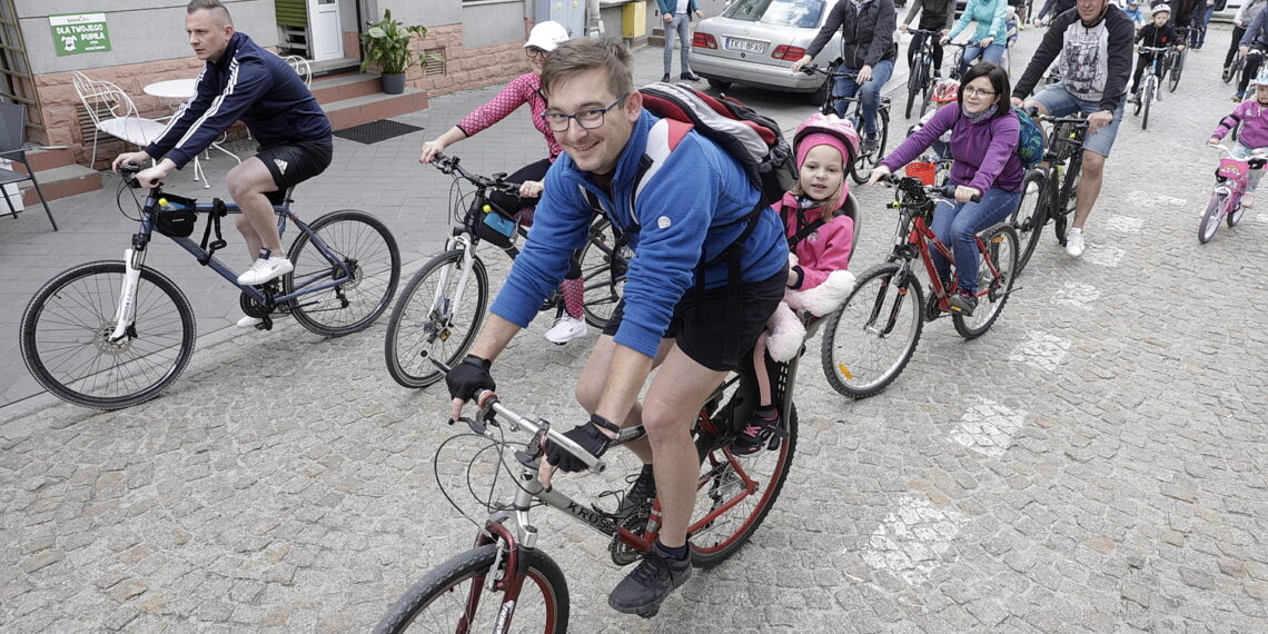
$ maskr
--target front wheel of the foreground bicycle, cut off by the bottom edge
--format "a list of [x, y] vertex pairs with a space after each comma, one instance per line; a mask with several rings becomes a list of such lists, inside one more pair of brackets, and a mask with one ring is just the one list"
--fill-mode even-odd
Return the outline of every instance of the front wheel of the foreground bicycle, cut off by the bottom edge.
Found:
[[[374, 628], [375, 634], [424, 631], [568, 631], [568, 582], [563, 571], [541, 550], [521, 548], [525, 579], [520, 596], [506, 596], [506, 557], [497, 557], [498, 544], [486, 544], [440, 564], [392, 604]], [[495, 563], [497, 568], [495, 568]], [[486, 587], [495, 576], [493, 590]], [[514, 612], [503, 614], [503, 606]], [[501, 619], [506, 620], [501, 620]], [[498, 626], [507, 629], [498, 629]]]

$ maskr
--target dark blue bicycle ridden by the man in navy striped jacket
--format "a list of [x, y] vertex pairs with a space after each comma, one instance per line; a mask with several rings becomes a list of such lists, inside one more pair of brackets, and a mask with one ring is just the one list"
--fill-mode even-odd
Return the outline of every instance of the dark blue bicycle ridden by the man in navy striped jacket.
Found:
[[[119, 167], [117, 198], [139, 188], [137, 165]], [[326, 337], [365, 330], [392, 302], [401, 275], [396, 238], [378, 218], [355, 209], [318, 217], [311, 224], [290, 210], [288, 189], [273, 205], [278, 233], [288, 222], [298, 228], [287, 250], [294, 270], [259, 285], [238, 284], [237, 271], [214, 257], [226, 246], [221, 218], [240, 213], [236, 204], [199, 203], [160, 183], [134, 199], [139, 227], [122, 260], [85, 262], [48, 280], [22, 316], [22, 358], [30, 374], [53, 396], [84, 407], [118, 410], [148, 401], [167, 388], [194, 354], [194, 311], [162, 273], [146, 265], [158, 232], [241, 290], [240, 306], [259, 328], [273, 316], [290, 314], [304, 328]], [[119, 204], [120, 212], [123, 205]], [[199, 214], [207, 214], [203, 242], [190, 240]], [[212, 231], [216, 241], [209, 242]]]

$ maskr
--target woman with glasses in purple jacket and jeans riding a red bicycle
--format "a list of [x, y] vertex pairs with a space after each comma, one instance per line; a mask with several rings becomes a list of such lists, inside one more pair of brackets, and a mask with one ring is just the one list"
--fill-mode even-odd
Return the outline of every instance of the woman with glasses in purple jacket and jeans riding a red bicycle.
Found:
[[[1026, 170], [1017, 156], [1017, 133], [1021, 123], [1008, 108], [1008, 74], [993, 63], [981, 62], [965, 74], [960, 84], [960, 100], [940, 109], [919, 132], [872, 170], [869, 184], [907, 165], [923, 153], [943, 132], [951, 131], [951, 183], [955, 204], [938, 203], [932, 230], [951, 245], [960, 276], [960, 293], [951, 298], [951, 309], [965, 316], [978, 307], [978, 247], [974, 236], [1008, 217], [1022, 198]], [[981, 199], [970, 202], [975, 195]], [[933, 251], [933, 264], [943, 284], [950, 278], [950, 265], [942, 254]]]

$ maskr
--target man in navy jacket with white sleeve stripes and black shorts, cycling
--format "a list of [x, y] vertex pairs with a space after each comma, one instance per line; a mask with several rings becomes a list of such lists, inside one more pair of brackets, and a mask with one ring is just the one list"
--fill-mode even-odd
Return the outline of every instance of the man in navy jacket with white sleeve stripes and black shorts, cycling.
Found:
[[[190, 1], [185, 30], [194, 53], [207, 62], [198, 76], [198, 93], [180, 107], [157, 139], [141, 152], [119, 155], [114, 169], [161, 158], [137, 175], [146, 188], [153, 188], [210, 146], [233, 122], [246, 123], [260, 142], [260, 152], [230, 171], [228, 186], [242, 208], [237, 228], [259, 259], [238, 276], [238, 283], [264, 284], [293, 270], [266, 194], [284, 191], [330, 165], [330, 119], [285, 60], [235, 32], [219, 0]], [[255, 323], [259, 320], [252, 317], [238, 322]]]

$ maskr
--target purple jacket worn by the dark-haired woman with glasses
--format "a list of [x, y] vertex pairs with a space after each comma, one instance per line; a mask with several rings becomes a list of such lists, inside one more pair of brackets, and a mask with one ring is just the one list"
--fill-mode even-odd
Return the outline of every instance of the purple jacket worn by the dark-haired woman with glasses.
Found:
[[1026, 170], [1017, 156], [1017, 133], [1021, 123], [1017, 115], [970, 123], [960, 113], [960, 104], [951, 103], [940, 109], [919, 132], [903, 141], [880, 164], [889, 171], [912, 162], [947, 129], [951, 131], [951, 180], [956, 184], [985, 193], [990, 188], [1021, 191]]

